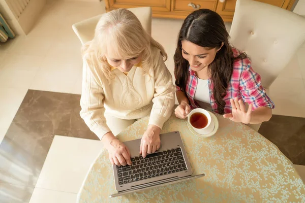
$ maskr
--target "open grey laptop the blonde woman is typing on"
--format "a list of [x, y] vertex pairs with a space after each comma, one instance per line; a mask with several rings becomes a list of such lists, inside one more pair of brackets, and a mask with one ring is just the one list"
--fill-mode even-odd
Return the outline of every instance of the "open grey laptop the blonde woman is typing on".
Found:
[[141, 139], [125, 142], [131, 153], [132, 165], [113, 165], [115, 189], [110, 197], [203, 177], [191, 176], [192, 168], [180, 133], [160, 134], [161, 146], [145, 158], [139, 155]]

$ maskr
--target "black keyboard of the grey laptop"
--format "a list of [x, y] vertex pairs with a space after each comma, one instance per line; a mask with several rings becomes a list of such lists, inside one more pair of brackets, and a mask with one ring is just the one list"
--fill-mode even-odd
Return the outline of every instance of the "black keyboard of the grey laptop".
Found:
[[118, 184], [123, 185], [145, 179], [187, 170], [181, 148], [131, 158], [132, 165], [117, 165]]

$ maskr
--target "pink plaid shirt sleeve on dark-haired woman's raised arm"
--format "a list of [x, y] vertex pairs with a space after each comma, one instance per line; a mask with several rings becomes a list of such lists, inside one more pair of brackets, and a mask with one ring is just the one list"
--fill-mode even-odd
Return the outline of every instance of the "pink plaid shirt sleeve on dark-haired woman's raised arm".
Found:
[[[245, 64], [245, 63], [244, 63]], [[275, 104], [267, 96], [265, 89], [261, 85], [261, 77], [254, 72], [250, 61], [247, 61], [247, 66], [241, 71], [239, 80], [239, 91], [245, 103], [253, 104], [252, 110], [258, 107], [275, 108]]]

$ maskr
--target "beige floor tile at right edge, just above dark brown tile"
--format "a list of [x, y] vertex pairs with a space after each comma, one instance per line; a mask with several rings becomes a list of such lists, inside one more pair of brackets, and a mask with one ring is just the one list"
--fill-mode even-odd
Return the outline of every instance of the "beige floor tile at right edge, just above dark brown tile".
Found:
[[305, 117], [303, 80], [278, 78], [271, 85], [269, 96], [276, 105], [276, 108], [272, 111], [273, 114]]

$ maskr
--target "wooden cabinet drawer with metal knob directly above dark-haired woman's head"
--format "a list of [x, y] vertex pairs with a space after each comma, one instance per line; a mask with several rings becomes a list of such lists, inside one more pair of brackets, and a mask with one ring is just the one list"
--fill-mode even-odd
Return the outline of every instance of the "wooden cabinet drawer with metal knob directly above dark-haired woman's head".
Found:
[[[193, 8], [193, 6], [195, 8]], [[198, 9], [216, 10], [217, 1], [193, 1], [193, 0], [172, 0], [172, 11], [186, 11], [192, 12]]]

